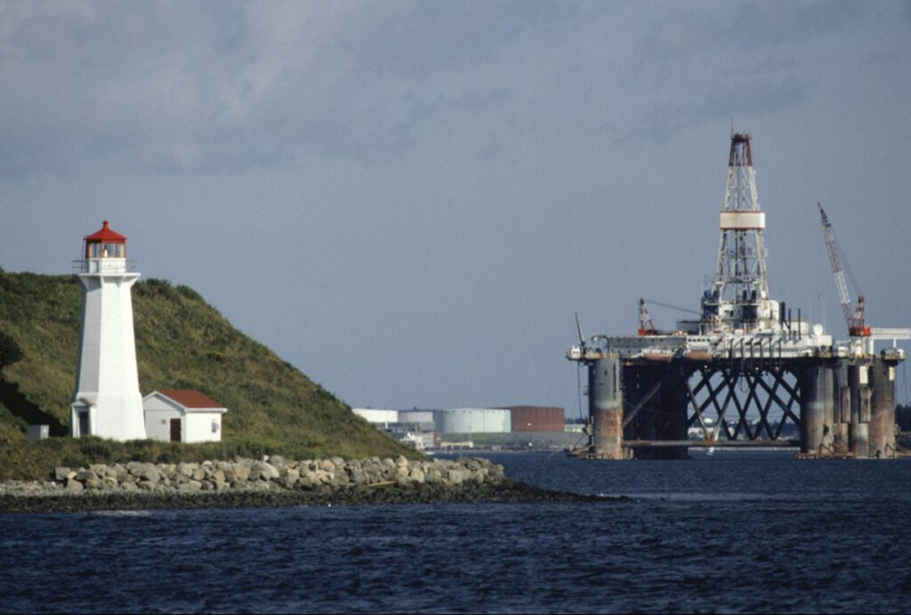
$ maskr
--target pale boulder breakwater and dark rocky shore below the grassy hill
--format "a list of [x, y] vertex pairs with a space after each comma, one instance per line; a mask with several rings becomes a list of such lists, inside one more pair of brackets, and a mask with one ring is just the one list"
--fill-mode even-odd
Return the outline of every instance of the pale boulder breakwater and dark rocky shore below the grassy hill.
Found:
[[[481, 457], [432, 461], [281, 456], [57, 467], [44, 483], [0, 484], [0, 512], [578, 499], [508, 479]], [[583, 497], [584, 498], [584, 497]]]

